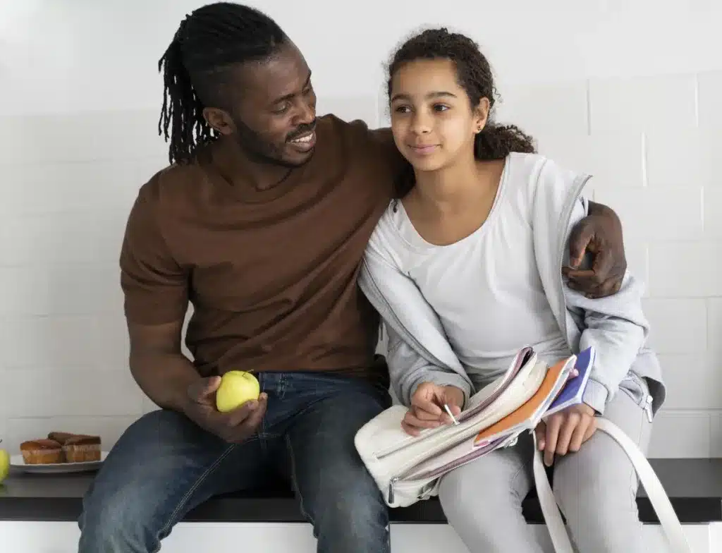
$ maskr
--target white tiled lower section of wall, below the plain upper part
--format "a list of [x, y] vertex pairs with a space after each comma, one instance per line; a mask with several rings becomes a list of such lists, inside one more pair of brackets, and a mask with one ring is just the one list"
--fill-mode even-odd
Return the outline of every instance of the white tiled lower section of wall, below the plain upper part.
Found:
[[[712, 170], [722, 121], [704, 103], [720, 82], [680, 75], [526, 87], [505, 94], [498, 114], [534, 134], [541, 152], [596, 175], [594, 198], [622, 217], [669, 383], [656, 456], [722, 455], [722, 225], [714, 216], [722, 181]], [[660, 128], [653, 114], [663, 100], [648, 97], [671, 85], [689, 95], [679, 98], [687, 107]], [[551, 108], [537, 109], [540, 102]], [[359, 113], [371, 125], [385, 122], [382, 105], [320, 100], [322, 111]], [[156, 116], [0, 121], [0, 435], [12, 448], [53, 429], [100, 432], [110, 445], [153, 408], [127, 369], [117, 258], [137, 188], [165, 164]]]

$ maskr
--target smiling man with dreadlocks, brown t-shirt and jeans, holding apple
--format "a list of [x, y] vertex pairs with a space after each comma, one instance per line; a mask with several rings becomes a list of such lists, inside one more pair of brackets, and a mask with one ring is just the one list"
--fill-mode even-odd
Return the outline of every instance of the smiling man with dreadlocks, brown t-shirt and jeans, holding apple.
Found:
[[[139, 191], [121, 284], [131, 372], [162, 409], [105, 461], [79, 551], [155, 552], [194, 506], [280, 477], [319, 552], [388, 552], [387, 509], [353, 438], [390, 404], [377, 314], [356, 282], [401, 167], [390, 133], [317, 119], [301, 53], [238, 4], [193, 12], [159, 68], [172, 165]], [[588, 245], [597, 267], [569, 276], [606, 295], [626, 264], [616, 215], [594, 209], [572, 248]], [[221, 414], [214, 391], [234, 369], [263, 393]]]

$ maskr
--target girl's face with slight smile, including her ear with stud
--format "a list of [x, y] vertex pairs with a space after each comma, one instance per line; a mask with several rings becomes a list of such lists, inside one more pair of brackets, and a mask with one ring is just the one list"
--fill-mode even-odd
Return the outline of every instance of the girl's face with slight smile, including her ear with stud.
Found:
[[488, 100], [471, 109], [451, 60], [404, 64], [391, 79], [391, 131], [415, 170], [435, 171], [474, 157], [474, 136], [487, 121]]

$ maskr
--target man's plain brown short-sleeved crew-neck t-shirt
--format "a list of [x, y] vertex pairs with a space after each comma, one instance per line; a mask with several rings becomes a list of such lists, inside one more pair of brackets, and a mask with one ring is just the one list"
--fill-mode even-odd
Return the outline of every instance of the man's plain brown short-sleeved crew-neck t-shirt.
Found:
[[121, 252], [126, 317], [182, 320], [190, 300], [201, 375], [375, 372], [378, 315], [357, 273], [398, 158], [388, 131], [361, 121], [324, 116], [316, 136], [313, 157], [268, 190], [243, 178], [222, 138], [139, 191]]

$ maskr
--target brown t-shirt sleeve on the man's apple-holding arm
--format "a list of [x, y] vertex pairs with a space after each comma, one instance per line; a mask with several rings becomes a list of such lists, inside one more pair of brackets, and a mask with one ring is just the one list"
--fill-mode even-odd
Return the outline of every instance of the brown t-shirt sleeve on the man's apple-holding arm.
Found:
[[131, 209], [121, 246], [121, 288], [130, 322], [182, 320], [188, 308], [188, 275], [163, 238], [157, 199], [144, 186]]

